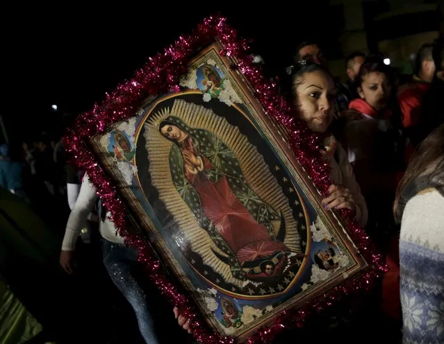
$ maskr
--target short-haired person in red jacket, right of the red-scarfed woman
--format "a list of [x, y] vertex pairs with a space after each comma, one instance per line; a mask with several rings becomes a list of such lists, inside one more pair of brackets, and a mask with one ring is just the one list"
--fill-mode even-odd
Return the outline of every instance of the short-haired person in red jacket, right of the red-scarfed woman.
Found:
[[415, 69], [411, 83], [398, 89], [397, 98], [403, 114], [404, 128], [414, 127], [418, 123], [422, 97], [427, 93], [435, 74], [435, 63], [431, 55], [434, 44], [424, 44], [416, 55]]

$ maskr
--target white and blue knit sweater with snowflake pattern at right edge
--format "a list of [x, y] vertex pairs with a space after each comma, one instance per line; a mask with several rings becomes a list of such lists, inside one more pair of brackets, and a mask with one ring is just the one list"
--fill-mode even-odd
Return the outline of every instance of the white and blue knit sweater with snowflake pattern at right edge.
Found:
[[444, 197], [425, 189], [402, 214], [400, 288], [404, 343], [444, 343]]

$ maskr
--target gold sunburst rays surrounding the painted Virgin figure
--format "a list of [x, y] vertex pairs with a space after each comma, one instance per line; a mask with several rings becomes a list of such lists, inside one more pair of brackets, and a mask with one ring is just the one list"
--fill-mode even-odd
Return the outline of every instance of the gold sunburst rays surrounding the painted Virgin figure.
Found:
[[178, 117], [190, 128], [212, 132], [229, 147], [237, 157], [242, 174], [252, 190], [261, 200], [283, 215], [286, 222], [286, 238], [284, 239], [286, 246], [290, 250], [301, 252], [297, 222], [293, 218], [292, 209], [257, 149], [249, 144], [247, 137], [242, 135], [239, 128], [231, 126], [226, 119], [218, 117], [211, 109], [176, 99], [171, 110], [169, 107], [163, 107], [149, 115], [145, 123], [145, 139], [150, 161], [149, 172], [152, 183], [158, 189], [159, 197], [190, 241], [191, 249], [202, 257], [204, 264], [211, 266], [215, 272], [222, 275], [226, 282], [242, 285], [242, 281], [232, 277], [229, 265], [224, 264], [214, 255], [211, 250], [211, 247], [215, 247], [213, 241], [207, 232], [199, 227], [190, 208], [174, 187], [169, 166], [172, 142], [165, 139], [158, 131], [161, 121], [169, 116]]

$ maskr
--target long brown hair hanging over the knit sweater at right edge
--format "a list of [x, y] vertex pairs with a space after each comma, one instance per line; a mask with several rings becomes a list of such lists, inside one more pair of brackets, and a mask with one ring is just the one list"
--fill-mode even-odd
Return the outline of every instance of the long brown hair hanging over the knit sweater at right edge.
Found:
[[[422, 173], [427, 171], [434, 162], [444, 160], [444, 124], [441, 124], [416, 148], [415, 153], [407, 167], [400, 184], [396, 190], [395, 203], [393, 204], [393, 213], [395, 219], [400, 221], [398, 207], [400, 205], [400, 199], [402, 192], [406, 189], [407, 185], [418, 178]], [[438, 164], [439, 165], [439, 164]], [[435, 171], [435, 173], [440, 171]]]

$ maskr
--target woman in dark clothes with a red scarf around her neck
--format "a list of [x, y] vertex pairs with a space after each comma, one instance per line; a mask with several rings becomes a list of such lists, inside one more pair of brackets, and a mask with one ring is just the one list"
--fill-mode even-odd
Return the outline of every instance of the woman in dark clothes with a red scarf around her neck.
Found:
[[359, 99], [341, 112], [341, 144], [353, 166], [369, 210], [369, 233], [382, 250], [396, 232], [390, 212], [405, 169], [406, 138], [395, 93], [395, 71], [379, 56], [368, 56], [356, 78]]

